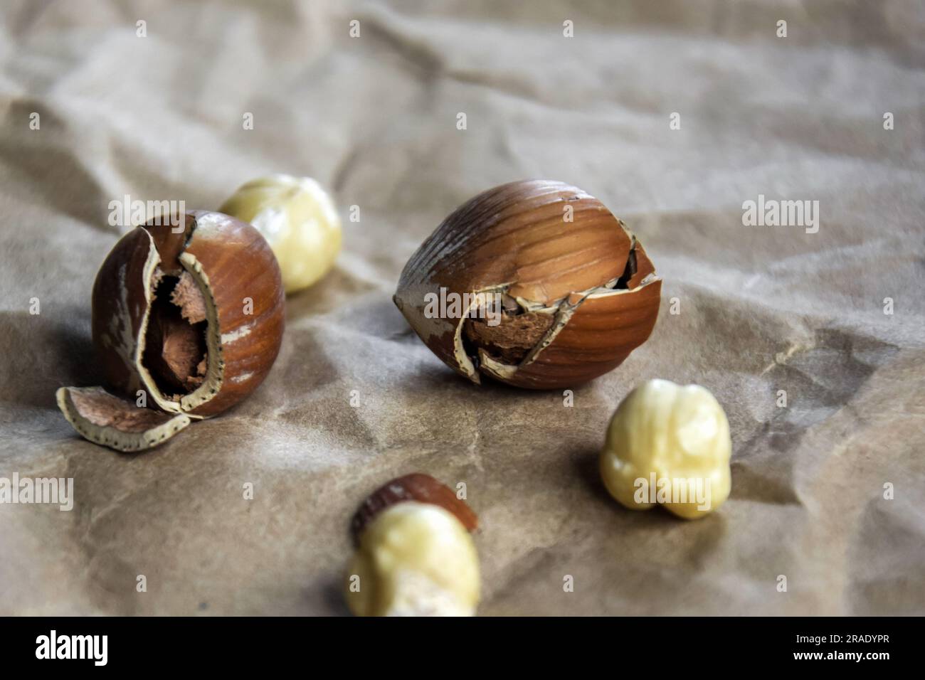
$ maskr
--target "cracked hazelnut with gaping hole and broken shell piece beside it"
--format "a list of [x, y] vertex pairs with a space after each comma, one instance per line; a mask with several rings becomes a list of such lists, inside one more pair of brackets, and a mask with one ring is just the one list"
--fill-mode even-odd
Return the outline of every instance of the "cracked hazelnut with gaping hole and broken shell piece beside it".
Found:
[[109, 391], [57, 392], [81, 435], [119, 451], [153, 447], [240, 402], [282, 340], [282, 281], [260, 233], [207, 211], [174, 221], [129, 231], [96, 275], [93, 345]]

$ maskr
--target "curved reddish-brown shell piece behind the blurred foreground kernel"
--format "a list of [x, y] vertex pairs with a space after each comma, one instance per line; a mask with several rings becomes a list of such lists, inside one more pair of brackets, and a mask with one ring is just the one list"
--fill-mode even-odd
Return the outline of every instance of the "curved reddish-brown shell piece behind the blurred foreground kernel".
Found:
[[457, 498], [451, 488], [430, 475], [413, 473], [396, 477], [369, 494], [351, 520], [353, 541], [359, 541], [366, 525], [372, 522], [378, 513], [403, 501], [439, 505], [453, 513], [468, 531], [475, 531], [478, 527], [478, 517], [472, 508]]

